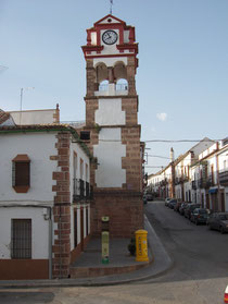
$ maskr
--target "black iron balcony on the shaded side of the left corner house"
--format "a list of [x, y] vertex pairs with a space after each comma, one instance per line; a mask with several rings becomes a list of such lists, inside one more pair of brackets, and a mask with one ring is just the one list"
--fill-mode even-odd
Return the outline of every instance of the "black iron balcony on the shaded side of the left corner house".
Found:
[[73, 179], [73, 202], [92, 199], [92, 186], [80, 179]]

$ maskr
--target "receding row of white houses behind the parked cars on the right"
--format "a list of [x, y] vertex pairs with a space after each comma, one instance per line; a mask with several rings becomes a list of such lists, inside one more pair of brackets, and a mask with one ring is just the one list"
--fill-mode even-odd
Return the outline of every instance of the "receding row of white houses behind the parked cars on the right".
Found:
[[[170, 170], [174, 168], [174, 174]], [[169, 177], [169, 179], [168, 179]], [[175, 182], [175, 193], [169, 189]], [[155, 196], [198, 203], [212, 211], [228, 211], [228, 141], [202, 139], [165, 169], [149, 177]]]

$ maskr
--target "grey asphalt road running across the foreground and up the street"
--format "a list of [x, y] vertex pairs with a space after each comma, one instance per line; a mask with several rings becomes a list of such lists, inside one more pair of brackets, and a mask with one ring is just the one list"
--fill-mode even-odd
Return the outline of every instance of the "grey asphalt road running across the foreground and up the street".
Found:
[[138, 283], [99, 288], [0, 291], [1, 304], [221, 304], [228, 283], [228, 234], [194, 226], [166, 208], [147, 205], [148, 218], [174, 259], [165, 275]]

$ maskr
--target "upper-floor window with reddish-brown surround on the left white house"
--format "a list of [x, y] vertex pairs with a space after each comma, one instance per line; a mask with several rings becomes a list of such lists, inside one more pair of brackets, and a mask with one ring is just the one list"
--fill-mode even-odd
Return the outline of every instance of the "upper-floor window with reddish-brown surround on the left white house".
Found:
[[17, 193], [26, 193], [30, 186], [30, 159], [27, 155], [17, 155], [12, 160], [12, 186]]

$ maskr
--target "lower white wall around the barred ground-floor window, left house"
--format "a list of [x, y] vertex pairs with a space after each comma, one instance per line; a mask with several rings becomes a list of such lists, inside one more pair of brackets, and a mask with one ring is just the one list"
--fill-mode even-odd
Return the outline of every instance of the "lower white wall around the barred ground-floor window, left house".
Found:
[[37, 207], [0, 208], [0, 258], [11, 258], [11, 219], [31, 219], [31, 258], [49, 258], [49, 221]]

